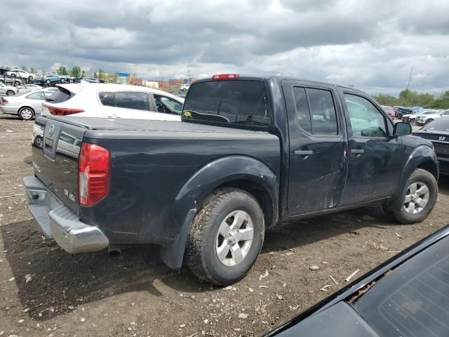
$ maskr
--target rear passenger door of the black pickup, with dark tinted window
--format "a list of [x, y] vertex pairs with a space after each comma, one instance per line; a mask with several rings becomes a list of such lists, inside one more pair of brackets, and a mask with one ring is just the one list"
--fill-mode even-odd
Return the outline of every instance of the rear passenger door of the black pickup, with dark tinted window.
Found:
[[335, 207], [347, 171], [346, 129], [333, 88], [283, 82], [290, 137], [288, 213]]

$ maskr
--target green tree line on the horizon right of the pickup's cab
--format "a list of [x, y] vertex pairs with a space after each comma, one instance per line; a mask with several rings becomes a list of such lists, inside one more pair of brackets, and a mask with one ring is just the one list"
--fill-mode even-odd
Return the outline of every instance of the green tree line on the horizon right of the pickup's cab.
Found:
[[381, 105], [389, 105], [394, 107], [400, 105], [404, 107], [425, 107], [428, 109], [448, 109], [449, 108], [449, 90], [438, 95], [431, 93], [418, 93], [410, 89], [406, 89], [399, 93], [398, 97], [380, 93], [373, 95]]

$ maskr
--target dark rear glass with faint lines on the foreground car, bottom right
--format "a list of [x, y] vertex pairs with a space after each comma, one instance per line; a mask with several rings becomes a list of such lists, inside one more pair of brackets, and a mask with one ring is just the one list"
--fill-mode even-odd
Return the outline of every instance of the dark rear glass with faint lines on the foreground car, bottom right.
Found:
[[382, 337], [449, 336], [448, 238], [380, 279], [354, 307]]

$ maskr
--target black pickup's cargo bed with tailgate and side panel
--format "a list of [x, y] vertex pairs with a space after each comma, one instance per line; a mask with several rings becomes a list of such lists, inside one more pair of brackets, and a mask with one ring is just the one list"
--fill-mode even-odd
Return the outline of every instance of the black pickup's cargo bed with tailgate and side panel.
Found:
[[[41, 142], [43, 148], [37, 146], [38, 137], [48, 140]], [[109, 194], [90, 207], [79, 206], [78, 199], [82, 142], [107, 148], [111, 157]], [[36, 176], [81, 220], [100, 227], [112, 244], [172, 243], [182, 225], [174, 201], [210, 163], [241, 156], [263, 163], [273, 176], [281, 170], [279, 138], [271, 133], [179, 121], [38, 117], [33, 143]], [[229, 169], [238, 176], [251, 167]], [[182, 207], [198, 206], [193, 196], [184, 197]]]

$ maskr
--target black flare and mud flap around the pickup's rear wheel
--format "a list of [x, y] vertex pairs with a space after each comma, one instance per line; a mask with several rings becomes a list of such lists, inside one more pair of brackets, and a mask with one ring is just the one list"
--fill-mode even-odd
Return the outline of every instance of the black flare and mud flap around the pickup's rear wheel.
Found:
[[161, 247], [161, 258], [166, 265], [174, 269], [181, 267], [185, 242], [196, 210], [210, 192], [220, 185], [235, 180], [248, 180], [268, 192], [272, 199], [272, 223], [277, 221], [279, 180], [276, 174], [262, 161], [251, 157], [232, 156], [216, 159], [196, 171], [175, 197], [173, 211], [179, 218], [177, 223], [180, 224], [180, 228], [175, 243]]

